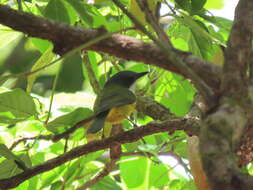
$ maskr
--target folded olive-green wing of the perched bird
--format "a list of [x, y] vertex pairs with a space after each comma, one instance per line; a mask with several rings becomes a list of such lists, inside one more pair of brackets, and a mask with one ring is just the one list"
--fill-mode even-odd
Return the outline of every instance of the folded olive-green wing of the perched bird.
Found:
[[136, 97], [134, 93], [128, 88], [111, 85], [102, 90], [100, 97], [95, 102], [94, 111], [101, 113], [113, 107], [132, 104], [135, 101]]

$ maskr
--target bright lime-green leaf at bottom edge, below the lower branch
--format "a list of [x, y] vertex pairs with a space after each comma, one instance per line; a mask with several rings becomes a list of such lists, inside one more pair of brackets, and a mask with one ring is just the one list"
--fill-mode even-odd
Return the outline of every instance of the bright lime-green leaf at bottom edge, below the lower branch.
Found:
[[145, 157], [124, 157], [120, 161], [120, 176], [127, 189], [148, 189], [150, 160]]

